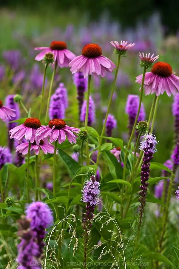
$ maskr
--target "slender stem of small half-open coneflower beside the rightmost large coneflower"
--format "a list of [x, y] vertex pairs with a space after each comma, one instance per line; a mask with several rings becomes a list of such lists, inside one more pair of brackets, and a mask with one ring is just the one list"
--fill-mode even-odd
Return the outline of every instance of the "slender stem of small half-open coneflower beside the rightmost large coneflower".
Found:
[[[143, 76], [142, 76], [142, 84], [141, 84], [141, 94], [140, 94], [140, 100], [139, 100], [139, 107], [138, 107], [137, 115], [136, 115], [136, 117], [135, 117], [135, 122], [134, 122], [134, 126], [133, 126], [133, 129], [132, 129], [132, 133], [131, 133], [131, 136], [130, 136], [130, 138], [129, 138], [129, 142], [128, 142], [128, 144], [127, 144], [127, 149], [130, 148], [130, 144], [131, 144], [131, 141], [132, 141], [132, 137], [133, 137], [133, 135], [134, 135], [135, 127], [136, 127], [136, 124], [137, 124], [137, 121], [138, 121], [138, 117], [139, 117], [139, 113], [140, 113], [140, 110], [141, 110], [141, 103], [142, 103], [142, 97], [143, 97], [143, 88], [144, 88], [144, 80], [145, 80], [146, 70], [147, 70], [147, 68], [144, 67], [144, 68], [143, 68]], [[127, 162], [127, 156], [128, 156], [128, 151], [126, 151], [125, 158], [124, 158], [123, 180], [125, 180], [125, 176], [126, 176], [126, 162]]]

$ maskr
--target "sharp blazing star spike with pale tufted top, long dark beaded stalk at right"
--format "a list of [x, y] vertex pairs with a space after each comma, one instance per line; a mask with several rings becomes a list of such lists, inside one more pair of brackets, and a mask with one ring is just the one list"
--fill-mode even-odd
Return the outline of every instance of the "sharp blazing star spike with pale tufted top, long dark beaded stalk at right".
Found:
[[143, 150], [143, 163], [141, 165], [141, 185], [139, 192], [140, 198], [140, 206], [139, 206], [139, 227], [142, 223], [142, 217], [144, 212], [144, 206], [146, 204], [146, 196], [147, 196], [147, 187], [149, 183], [147, 182], [149, 180], [149, 173], [150, 173], [150, 161], [153, 158], [153, 153], [157, 151], [156, 144], [158, 143], [156, 140], [155, 135], [153, 134], [146, 134], [143, 136], [143, 140], [141, 141], [140, 149]]

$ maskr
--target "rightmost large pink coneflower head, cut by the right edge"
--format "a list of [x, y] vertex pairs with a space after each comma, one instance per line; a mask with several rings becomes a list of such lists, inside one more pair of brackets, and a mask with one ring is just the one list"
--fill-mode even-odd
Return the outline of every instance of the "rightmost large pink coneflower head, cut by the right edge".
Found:
[[[139, 84], [142, 83], [143, 75], [136, 77]], [[166, 62], [156, 62], [151, 69], [151, 72], [146, 72], [144, 80], [145, 94], [153, 94], [156, 96], [163, 94], [166, 91], [168, 96], [176, 95], [179, 92], [179, 77], [172, 72], [172, 67]]]

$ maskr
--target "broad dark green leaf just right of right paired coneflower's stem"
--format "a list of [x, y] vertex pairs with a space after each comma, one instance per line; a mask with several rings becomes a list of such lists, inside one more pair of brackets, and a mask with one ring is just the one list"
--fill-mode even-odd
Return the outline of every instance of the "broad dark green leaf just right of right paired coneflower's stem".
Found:
[[81, 165], [61, 149], [58, 149], [58, 155], [67, 167], [70, 176], [74, 177], [78, 169], [81, 168]]

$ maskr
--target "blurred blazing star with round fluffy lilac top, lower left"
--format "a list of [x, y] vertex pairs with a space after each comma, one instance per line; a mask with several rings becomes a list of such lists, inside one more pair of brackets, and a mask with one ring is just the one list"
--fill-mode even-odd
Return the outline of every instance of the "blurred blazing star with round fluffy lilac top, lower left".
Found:
[[53, 213], [43, 202], [33, 202], [26, 209], [27, 218], [31, 219], [30, 228], [36, 233], [40, 257], [43, 254], [45, 229], [53, 224]]

